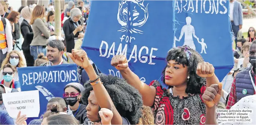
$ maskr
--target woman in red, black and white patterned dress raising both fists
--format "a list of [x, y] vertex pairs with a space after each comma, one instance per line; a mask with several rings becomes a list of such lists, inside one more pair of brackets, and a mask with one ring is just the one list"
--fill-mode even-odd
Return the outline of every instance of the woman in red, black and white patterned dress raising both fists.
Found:
[[162, 79], [169, 86], [168, 89], [156, 80], [149, 86], [141, 82], [129, 69], [124, 55], [114, 56], [111, 65], [139, 90], [143, 104], [153, 108], [155, 124], [204, 124], [206, 109], [202, 94], [206, 86], [219, 83], [214, 67], [204, 62], [202, 56], [189, 46], [172, 48], [168, 51], [166, 61]]

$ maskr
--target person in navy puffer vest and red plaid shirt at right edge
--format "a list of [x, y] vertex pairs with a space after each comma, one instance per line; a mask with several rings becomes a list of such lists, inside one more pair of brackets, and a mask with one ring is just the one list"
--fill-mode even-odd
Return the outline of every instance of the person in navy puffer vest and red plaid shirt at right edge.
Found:
[[227, 109], [230, 109], [241, 98], [254, 95], [256, 92], [255, 73], [256, 73], [256, 40], [252, 42], [249, 48], [250, 67], [240, 71], [232, 85], [228, 97]]

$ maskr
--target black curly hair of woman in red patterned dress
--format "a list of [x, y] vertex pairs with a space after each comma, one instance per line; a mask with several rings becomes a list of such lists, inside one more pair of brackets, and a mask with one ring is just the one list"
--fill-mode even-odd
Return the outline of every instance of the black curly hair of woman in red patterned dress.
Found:
[[[189, 60], [187, 59], [185, 50], [189, 50], [191, 52]], [[179, 58], [178, 58], [179, 57]], [[200, 62], [203, 62], [204, 59], [202, 56], [195, 50], [189, 48], [189, 46], [182, 46], [182, 47], [176, 47], [172, 48], [168, 51], [168, 55], [166, 57], [166, 61], [169, 60], [175, 60], [179, 64], [183, 65], [183, 67], [186, 65], [188, 67], [189, 71], [189, 81], [187, 82], [187, 88], [185, 90], [186, 93], [190, 94], [198, 94], [200, 93], [200, 89], [203, 84], [205, 84], [205, 78], [199, 77], [196, 74], [197, 71], [197, 64]], [[162, 71], [162, 81], [165, 83], [165, 69], [167, 65], [165, 66], [164, 70]], [[169, 86], [171, 88], [173, 86]]]

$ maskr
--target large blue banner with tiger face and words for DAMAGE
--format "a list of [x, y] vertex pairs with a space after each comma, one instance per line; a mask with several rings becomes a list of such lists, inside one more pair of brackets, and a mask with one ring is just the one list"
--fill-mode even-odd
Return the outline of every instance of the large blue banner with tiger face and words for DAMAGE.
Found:
[[126, 55], [141, 81], [161, 76], [173, 43], [172, 1], [91, 1], [82, 48], [105, 74], [121, 77], [110, 65], [114, 55]]

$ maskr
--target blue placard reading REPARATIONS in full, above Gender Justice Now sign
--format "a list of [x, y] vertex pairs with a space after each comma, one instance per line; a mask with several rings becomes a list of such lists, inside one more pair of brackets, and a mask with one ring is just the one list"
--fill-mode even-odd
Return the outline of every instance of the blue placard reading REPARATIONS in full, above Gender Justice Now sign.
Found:
[[[64, 87], [78, 82], [77, 65], [57, 65], [18, 68], [22, 91], [39, 90], [40, 113], [46, 111], [47, 103], [54, 97], [63, 97]], [[28, 118], [29, 121], [39, 118]]]

